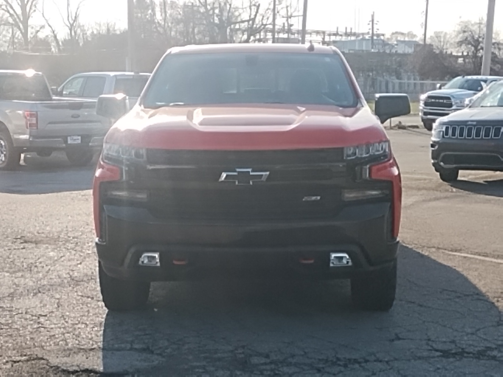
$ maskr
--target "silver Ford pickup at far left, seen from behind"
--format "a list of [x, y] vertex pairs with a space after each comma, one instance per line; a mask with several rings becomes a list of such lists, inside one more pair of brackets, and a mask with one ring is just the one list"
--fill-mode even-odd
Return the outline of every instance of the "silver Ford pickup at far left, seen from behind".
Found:
[[53, 98], [42, 73], [0, 70], [0, 170], [17, 168], [22, 153], [47, 157], [55, 150], [87, 165], [110, 126], [96, 115], [96, 101]]

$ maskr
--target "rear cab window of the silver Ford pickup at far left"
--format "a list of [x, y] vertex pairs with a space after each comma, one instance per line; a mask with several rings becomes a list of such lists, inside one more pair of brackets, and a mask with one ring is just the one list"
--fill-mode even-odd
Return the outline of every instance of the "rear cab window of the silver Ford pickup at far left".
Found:
[[51, 101], [52, 95], [42, 75], [0, 75], [0, 100]]

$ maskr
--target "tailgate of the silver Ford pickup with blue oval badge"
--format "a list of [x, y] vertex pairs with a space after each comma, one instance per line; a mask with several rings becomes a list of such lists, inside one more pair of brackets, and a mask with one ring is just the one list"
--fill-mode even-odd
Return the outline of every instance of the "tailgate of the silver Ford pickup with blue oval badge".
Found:
[[37, 127], [30, 129], [30, 136], [62, 137], [65, 143], [69, 136], [78, 136], [86, 143], [104, 136], [110, 126], [107, 119], [96, 115], [96, 101], [53, 101], [38, 104]]

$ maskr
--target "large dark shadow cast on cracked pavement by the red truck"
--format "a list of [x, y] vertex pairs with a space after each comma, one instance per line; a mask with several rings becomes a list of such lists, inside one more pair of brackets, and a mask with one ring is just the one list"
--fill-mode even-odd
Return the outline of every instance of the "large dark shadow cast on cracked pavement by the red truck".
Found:
[[389, 313], [354, 310], [345, 281], [156, 284], [145, 312], [106, 315], [103, 371], [482, 375], [503, 370], [501, 315], [463, 274], [402, 246]]

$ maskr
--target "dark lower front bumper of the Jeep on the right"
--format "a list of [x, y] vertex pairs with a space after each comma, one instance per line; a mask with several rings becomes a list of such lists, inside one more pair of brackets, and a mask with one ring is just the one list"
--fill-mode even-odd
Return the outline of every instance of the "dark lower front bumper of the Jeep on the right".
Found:
[[432, 140], [431, 158], [436, 171], [503, 171], [503, 140]]

